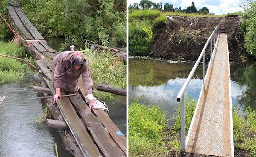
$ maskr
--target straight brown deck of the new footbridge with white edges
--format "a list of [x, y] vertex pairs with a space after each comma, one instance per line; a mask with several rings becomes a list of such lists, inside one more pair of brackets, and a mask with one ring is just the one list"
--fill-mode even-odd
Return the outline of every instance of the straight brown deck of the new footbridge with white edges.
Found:
[[234, 157], [227, 35], [220, 34], [217, 44], [187, 134], [185, 152]]

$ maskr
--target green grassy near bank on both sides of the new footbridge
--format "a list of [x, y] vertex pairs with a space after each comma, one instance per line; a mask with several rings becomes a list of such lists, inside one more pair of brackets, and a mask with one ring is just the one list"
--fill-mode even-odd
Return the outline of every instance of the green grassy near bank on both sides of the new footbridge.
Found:
[[[189, 130], [196, 102], [186, 98], [186, 133]], [[129, 157], [180, 156], [180, 107], [175, 125], [166, 127], [166, 113], [159, 106], [146, 106], [134, 99], [129, 106]], [[233, 107], [234, 148], [256, 157], [256, 111]]]

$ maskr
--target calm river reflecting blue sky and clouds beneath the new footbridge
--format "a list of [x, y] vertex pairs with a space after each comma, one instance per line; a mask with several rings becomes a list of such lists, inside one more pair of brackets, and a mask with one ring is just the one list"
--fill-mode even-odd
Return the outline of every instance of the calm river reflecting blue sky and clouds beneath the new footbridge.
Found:
[[[177, 94], [186, 81], [193, 62], [171, 62], [169, 60], [129, 58], [129, 105], [134, 98], [147, 105], [160, 105], [167, 111], [168, 126], [173, 126]], [[206, 66], [207, 68], [207, 66]], [[199, 64], [185, 95], [198, 100], [202, 88], [202, 64]], [[256, 109], [256, 66], [231, 64], [232, 104], [240, 109], [250, 106]]]

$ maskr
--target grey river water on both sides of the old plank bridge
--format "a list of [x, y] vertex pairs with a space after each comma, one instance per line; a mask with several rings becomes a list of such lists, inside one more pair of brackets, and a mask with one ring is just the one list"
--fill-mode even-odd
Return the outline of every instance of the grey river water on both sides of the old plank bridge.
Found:
[[[47, 39], [49, 46], [58, 50], [63, 38]], [[32, 76], [14, 84], [0, 84], [0, 157], [73, 157], [66, 151], [57, 130], [44, 123], [36, 124], [43, 114], [44, 101], [33, 91]], [[108, 105], [110, 118], [126, 136], [126, 97], [103, 100]]]

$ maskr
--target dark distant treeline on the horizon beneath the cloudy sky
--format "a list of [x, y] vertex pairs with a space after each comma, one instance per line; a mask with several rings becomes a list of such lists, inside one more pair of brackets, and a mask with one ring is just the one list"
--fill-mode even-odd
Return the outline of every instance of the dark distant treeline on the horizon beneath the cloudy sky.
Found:
[[176, 11], [183, 13], [201, 13], [201, 14], [214, 14], [209, 13], [209, 9], [207, 7], [203, 7], [201, 9], [197, 9], [195, 7], [195, 3], [192, 2], [191, 6], [188, 6], [186, 9], [181, 9], [181, 7], [173, 8], [172, 4], [166, 3], [164, 6], [160, 3], [154, 3], [149, 0], [141, 0], [140, 3], [134, 3], [133, 5], [129, 5], [129, 9], [155, 9], [159, 11]]

